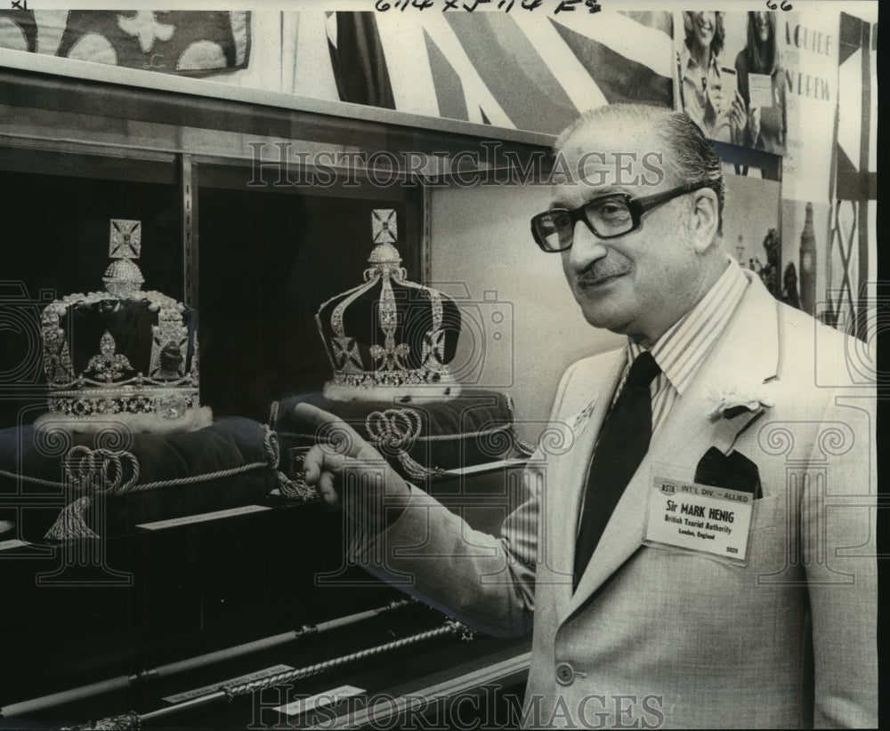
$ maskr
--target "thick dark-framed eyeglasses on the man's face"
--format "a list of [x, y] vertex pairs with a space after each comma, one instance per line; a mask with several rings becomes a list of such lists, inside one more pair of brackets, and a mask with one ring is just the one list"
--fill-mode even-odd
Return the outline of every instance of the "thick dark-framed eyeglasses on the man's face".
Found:
[[575, 224], [584, 221], [598, 238], [618, 238], [640, 228], [643, 213], [676, 197], [707, 188], [701, 183], [682, 185], [654, 196], [635, 198], [627, 193], [606, 193], [569, 210], [551, 208], [531, 219], [531, 235], [544, 251], [564, 252], [571, 248]]

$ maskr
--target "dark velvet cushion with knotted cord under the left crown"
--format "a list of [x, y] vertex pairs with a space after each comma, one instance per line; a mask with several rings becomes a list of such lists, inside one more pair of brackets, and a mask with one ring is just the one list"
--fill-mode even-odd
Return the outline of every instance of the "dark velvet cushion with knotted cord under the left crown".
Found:
[[[35, 429], [31, 425], [0, 430], [0, 470], [4, 470], [0, 474], [0, 494], [20, 496], [20, 511], [9, 519], [20, 524], [21, 538], [42, 540], [65, 506], [61, 488], [65, 479], [63, 458], [74, 446], [133, 454], [138, 462], [139, 474], [134, 482], [137, 487], [182, 478], [195, 480], [109, 495], [104, 502], [104, 516], [95, 507], [85, 513], [87, 526], [104, 536], [133, 532], [139, 523], [262, 503], [264, 496], [277, 486], [266, 429], [250, 419], [227, 417], [202, 430], [165, 435], [134, 433], [123, 434], [121, 439], [115, 438], [115, 434], [120, 432], [79, 434]], [[121, 464], [124, 481], [132, 478], [133, 464], [126, 458]], [[250, 465], [255, 466], [225, 474], [226, 470]], [[55, 484], [23, 480], [19, 486], [19, 480], [6, 473]], [[75, 496], [81, 494], [77, 492]], [[99, 525], [102, 521], [104, 528]]]

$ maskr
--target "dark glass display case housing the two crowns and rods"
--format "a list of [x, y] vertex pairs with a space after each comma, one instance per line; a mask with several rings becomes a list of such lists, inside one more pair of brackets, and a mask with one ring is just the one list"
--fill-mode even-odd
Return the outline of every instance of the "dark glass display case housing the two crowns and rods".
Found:
[[[348, 524], [306, 494], [282, 494], [281, 470], [285, 485], [299, 474], [285, 454], [270, 456], [268, 426], [277, 399], [320, 391], [330, 377], [315, 313], [367, 267], [372, 211], [395, 212], [402, 266], [429, 278], [434, 191], [419, 168], [393, 170], [392, 159], [410, 152], [448, 182], [454, 171], [441, 160], [467, 150], [484, 159], [490, 128], [56, 61], [0, 51], [0, 180], [14, 242], [0, 305], [0, 574], [15, 597], [4, 623], [2, 723], [58, 727], [129, 713], [143, 727], [244, 726], [256, 714], [361, 725], [368, 713], [450, 712], [437, 704], [460, 694], [476, 698], [465, 714], [479, 698], [499, 713], [518, 710], [529, 640], [471, 639], [345, 564]], [[549, 142], [505, 133], [519, 160]], [[305, 162], [306, 150], [347, 162], [328, 184], [295, 183], [325, 172]], [[100, 527], [87, 520], [96, 534], [50, 540], [53, 520], [82, 493], [63, 459], [71, 442], [46, 446], [33, 423], [47, 398], [41, 317], [63, 295], [101, 289], [111, 219], [141, 222], [144, 289], [198, 311], [201, 403], [240, 438], [256, 430], [255, 454], [239, 443], [232, 469], [259, 467], [226, 482], [168, 480], [125, 503], [99, 490], [93, 502], [108, 504]], [[152, 447], [136, 441], [144, 473]], [[185, 462], [211, 449], [200, 439], [174, 447]], [[502, 448], [498, 457], [520, 454]], [[497, 532], [522, 459], [481, 462], [449, 465], [422, 484]], [[260, 685], [244, 691], [250, 682]], [[221, 686], [244, 697], [221, 703]], [[306, 701], [343, 687], [340, 701]]]

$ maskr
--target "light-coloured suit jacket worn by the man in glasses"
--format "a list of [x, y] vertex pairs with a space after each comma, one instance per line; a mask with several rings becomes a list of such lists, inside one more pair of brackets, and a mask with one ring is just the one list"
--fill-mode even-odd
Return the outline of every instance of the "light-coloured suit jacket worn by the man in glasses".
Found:
[[[578, 590], [571, 567], [596, 435], [622, 349], [562, 377], [550, 437], [499, 537], [412, 488], [353, 556], [485, 631], [533, 624], [524, 723], [534, 727], [877, 724], [875, 391], [862, 343], [751, 279], [606, 526]], [[755, 383], [773, 406], [712, 420]], [[744, 396], [744, 393], [741, 393]], [[562, 442], [562, 443], [561, 443]], [[643, 545], [652, 478], [692, 480], [710, 446], [763, 486], [747, 566]]]

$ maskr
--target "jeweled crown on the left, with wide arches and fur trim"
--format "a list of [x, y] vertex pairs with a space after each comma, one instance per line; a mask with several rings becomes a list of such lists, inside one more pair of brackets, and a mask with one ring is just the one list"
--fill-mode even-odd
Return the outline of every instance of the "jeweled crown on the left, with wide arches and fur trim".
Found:
[[69, 294], [43, 312], [45, 418], [83, 426], [109, 419], [137, 430], [212, 422], [198, 401], [198, 316], [166, 294], [142, 292], [134, 262], [139, 221], [111, 220], [104, 292]]

